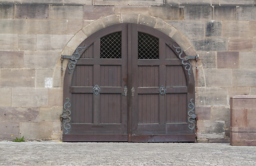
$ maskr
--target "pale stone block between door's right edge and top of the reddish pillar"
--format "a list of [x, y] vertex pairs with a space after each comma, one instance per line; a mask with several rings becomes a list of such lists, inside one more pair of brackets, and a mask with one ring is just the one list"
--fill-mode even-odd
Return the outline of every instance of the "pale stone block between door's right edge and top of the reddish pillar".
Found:
[[198, 107], [227, 106], [227, 89], [195, 88], [195, 105]]

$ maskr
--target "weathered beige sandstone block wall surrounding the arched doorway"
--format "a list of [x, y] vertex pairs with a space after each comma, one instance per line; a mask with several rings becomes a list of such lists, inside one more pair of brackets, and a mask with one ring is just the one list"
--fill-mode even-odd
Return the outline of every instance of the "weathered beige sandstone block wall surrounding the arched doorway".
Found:
[[0, 139], [61, 139], [61, 54], [72, 54], [88, 36], [81, 30], [88, 24], [103, 28], [97, 26], [100, 18], [118, 24], [104, 18], [131, 12], [177, 28], [173, 39], [187, 54], [200, 55], [198, 71], [192, 62], [198, 140], [229, 138], [230, 97], [256, 95], [254, 5], [254, 0], [1, 1]]

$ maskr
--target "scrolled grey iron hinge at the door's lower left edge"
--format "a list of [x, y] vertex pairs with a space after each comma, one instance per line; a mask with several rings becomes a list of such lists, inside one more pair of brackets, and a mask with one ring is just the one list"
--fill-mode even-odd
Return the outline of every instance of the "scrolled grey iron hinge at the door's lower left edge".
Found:
[[68, 133], [68, 130], [70, 129], [70, 122], [71, 122], [71, 111], [69, 108], [71, 107], [70, 104], [70, 99], [66, 98], [67, 102], [65, 102], [64, 107], [63, 107], [63, 113], [61, 114], [61, 127], [64, 131], [65, 134]]

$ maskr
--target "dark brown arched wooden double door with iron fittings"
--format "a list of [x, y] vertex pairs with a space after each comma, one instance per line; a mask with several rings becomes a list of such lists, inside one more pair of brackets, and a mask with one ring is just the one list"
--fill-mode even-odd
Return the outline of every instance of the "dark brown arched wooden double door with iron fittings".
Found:
[[73, 55], [64, 80], [63, 141], [195, 141], [188, 115], [193, 73], [173, 39], [118, 24], [88, 37]]

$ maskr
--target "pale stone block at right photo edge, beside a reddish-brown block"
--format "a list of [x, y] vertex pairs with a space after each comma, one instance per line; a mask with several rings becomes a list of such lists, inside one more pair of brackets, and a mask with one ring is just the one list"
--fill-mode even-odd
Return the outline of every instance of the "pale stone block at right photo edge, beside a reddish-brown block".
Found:
[[239, 68], [255, 68], [256, 52], [239, 52]]

